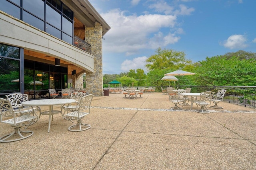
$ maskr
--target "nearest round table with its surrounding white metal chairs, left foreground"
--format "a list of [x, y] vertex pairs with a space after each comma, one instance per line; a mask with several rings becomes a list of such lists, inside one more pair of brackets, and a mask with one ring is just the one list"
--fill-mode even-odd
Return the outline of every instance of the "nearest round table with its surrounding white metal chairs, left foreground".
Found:
[[[90, 125], [82, 123], [82, 119], [90, 113], [93, 95], [73, 91], [61, 90], [62, 98], [56, 98], [59, 93], [54, 89], [49, 89], [52, 98], [48, 99], [28, 100], [28, 94], [21, 93], [6, 95], [6, 99], [0, 98], [0, 122], [14, 127], [12, 133], [0, 137], [0, 142], [19, 141], [32, 136], [34, 132], [27, 128], [36, 123], [41, 115], [49, 115], [48, 133], [53, 115], [58, 113], [61, 113], [63, 119], [72, 121], [72, 123], [77, 121], [76, 124], [68, 127], [69, 131], [89, 129]], [[60, 110], [53, 109], [56, 105], [60, 105]], [[49, 110], [41, 111], [41, 106], [49, 106]]]

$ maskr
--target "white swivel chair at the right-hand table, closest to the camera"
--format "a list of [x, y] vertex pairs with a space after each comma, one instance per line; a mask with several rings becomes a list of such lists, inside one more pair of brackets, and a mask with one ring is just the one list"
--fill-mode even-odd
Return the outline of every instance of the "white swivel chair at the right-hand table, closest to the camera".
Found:
[[193, 101], [192, 104], [191, 104], [191, 105], [193, 105], [193, 103], [196, 103], [196, 105], [201, 107], [201, 109], [196, 110], [196, 112], [198, 112], [198, 113], [210, 113], [210, 111], [206, 110], [205, 108], [206, 108], [206, 106], [211, 104], [210, 99], [212, 99], [213, 94], [214, 94], [214, 92], [210, 92], [210, 91], [200, 93], [199, 99], [196, 100], [196, 101]]

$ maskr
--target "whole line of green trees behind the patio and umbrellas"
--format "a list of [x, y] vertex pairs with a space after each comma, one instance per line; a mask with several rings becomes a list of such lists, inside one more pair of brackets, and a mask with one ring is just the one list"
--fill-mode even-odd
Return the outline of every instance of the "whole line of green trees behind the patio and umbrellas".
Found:
[[[186, 54], [171, 49], [158, 48], [150, 56], [144, 70], [130, 70], [121, 74], [104, 74], [103, 82], [122, 82], [122, 86], [168, 86], [161, 80], [164, 74], [175, 70], [196, 73], [193, 76], [180, 76], [180, 85], [200, 86], [256, 86], [256, 53], [237, 51], [220, 56], [206, 57], [197, 63], [186, 59]], [[170, 82], [175, 85], [175, 82]]]

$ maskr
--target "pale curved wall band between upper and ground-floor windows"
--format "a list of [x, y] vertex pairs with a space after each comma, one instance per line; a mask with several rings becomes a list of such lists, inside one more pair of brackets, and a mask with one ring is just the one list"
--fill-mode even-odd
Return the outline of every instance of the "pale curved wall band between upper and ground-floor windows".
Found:
[[0, 43], [72, 63], [88, 72], [94, 72], [94, 56], [52, 35], [0, 11]]

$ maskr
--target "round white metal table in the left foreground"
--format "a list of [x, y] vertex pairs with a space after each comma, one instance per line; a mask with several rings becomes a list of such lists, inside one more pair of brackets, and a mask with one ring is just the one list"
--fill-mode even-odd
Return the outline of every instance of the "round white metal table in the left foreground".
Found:
[[41, 100], [29, 100], [22, 102], [24, 106], [49, 106], [49, 111], [44, 111], [42, 115], [49, 115], [48, 133], [50, 132], [51, 117], [53, 114], [60, 113], [60, 111], [53, 111], [54, 105], [70, 104], [76, 102], [74, 99], [41, 99]]

